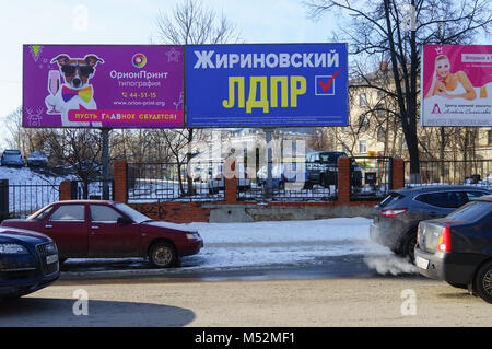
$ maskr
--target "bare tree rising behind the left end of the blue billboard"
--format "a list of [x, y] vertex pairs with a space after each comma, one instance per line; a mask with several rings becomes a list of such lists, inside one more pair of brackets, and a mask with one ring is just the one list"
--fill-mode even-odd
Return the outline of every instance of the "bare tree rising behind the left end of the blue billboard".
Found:
[[[241, 39], [236, 26], [231, 23], [223, 13], [218, 16], [215, 11], [206, 9], [200, 1], [196, 0], [186, 0], [180, 4], [177, 4], [173, 9], [171, 15], [160, 12], [156, 19], [156, 26], [157, 40], [165, 44], [226, 44], [237, 43]], [[191, 195], [194, 193], [192, 178], [189, 175], [189, 164], [192, 156], [191, 143], [197, 138], [197, 135], [195, 133], [200, 131], [187, 128], [186, 130], [176, 132], [178, 132], [178, 137], [171, 137], [168, 132], [164, 132], [163, 136], [166, 139], [166, 142], [169, 140], [177, 141], [177, 143], [168, 142], [168, 146], [173, 148], [179, 173], [181, 172], [180, 152], [185, 150], [181, 142], [186, 142], [188, 194]]]

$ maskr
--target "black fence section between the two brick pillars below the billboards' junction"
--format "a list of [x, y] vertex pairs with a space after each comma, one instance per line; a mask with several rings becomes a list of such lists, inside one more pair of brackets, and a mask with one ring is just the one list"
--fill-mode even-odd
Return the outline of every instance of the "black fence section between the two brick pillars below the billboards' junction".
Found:
[[[127, 188], [129, 202], [221, 201], [223, 187], [212, 178], [221, 173], [222, 162], [129, 163]], [[188, 181], [188, 173], [189, 179]]]

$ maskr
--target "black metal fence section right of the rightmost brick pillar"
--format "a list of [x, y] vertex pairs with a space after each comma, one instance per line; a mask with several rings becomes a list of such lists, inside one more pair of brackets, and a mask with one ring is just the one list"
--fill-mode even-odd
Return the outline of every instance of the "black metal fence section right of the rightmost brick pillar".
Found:
[[[406, 183], [410, 183], [410, 163], [405, 163]], [[492, 160], [420, 161], [420, 183], [472, 184], [492, 186]]]

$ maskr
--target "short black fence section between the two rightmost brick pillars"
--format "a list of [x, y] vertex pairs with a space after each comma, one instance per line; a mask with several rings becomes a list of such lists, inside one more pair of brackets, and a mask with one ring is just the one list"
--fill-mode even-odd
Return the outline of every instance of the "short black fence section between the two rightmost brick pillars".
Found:
[[352, 156], [351, 200], [384, 198], [391, 188], [393, 158]]

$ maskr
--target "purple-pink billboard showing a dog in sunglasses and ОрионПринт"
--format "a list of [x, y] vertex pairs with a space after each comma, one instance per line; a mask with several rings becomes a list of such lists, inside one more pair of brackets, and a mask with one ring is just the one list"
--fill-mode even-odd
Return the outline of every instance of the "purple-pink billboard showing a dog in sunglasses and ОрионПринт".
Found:
[[24, 45], [24, 127], [184, 126], [184, 48]]

